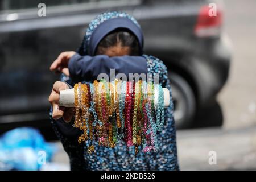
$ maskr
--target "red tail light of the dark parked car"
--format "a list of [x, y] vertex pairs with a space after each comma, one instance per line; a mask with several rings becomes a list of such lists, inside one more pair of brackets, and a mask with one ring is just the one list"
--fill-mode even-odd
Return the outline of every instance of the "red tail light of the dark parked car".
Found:
[[202, 6], [195, 26], [195, 35], [199, 37], [220, 35], [222, 25], [222, 10], [216, 10], [216, 16], [210, 16], [211, 7]]

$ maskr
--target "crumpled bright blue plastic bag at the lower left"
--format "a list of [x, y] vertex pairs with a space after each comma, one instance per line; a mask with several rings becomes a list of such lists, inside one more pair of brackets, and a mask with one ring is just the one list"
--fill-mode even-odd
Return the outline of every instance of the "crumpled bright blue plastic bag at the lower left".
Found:
[[39, 170], [55, 152], [36, 129], [10, 130], [0, 137], [0, 170]]

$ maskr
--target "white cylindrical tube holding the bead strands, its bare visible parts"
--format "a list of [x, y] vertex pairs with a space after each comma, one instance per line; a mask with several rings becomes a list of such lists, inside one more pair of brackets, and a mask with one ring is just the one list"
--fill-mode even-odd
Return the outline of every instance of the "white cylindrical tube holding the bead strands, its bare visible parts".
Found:
[[[155, 106], [158, 104], [158, 90], [154, 90], [155, 97]], [[170, 105], [170, 92], [167, 88], [163, 88], [164, 93], [164, 107], [168, 107]], [[75, 96], [74, 89], [66, 89], [60, 91], [60, 100], [59, 105], [64, 107], [74, 107], [75, 106]]]

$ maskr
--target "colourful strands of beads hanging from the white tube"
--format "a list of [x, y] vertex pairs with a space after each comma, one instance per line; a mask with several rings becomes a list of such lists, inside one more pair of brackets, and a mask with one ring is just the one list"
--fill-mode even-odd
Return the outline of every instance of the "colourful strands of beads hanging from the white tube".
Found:
[[74, 126], [81, 130], [78, 142], [88, 141], [89, 154], [95, 152], [93, 143], [113, 148], [119, 140], [127, 147], [134, 146], [135, 155], [139, 146], [143, 152], [158, 150], [158, 131], [164, 125], [162, 86], [141, 80], [102, 79], [75, 84], [74, 97]]

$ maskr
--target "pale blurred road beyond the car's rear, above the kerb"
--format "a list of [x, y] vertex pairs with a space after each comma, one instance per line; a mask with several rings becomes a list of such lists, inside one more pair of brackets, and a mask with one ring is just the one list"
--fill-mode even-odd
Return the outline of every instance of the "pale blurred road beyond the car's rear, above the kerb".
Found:
[[225, 129], [256, 124], [256, 1], [226, 0], [224, 32], [233, 45], [229, 80], [218, 95]]

